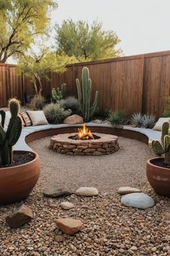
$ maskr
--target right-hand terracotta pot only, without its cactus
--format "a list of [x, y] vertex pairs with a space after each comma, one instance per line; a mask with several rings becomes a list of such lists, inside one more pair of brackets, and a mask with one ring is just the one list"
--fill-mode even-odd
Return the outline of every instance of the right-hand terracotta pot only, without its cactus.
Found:
[[154, 163], [164, 158], [151, 158], [146, 165], [146, 175], [151, 187], [158, 195], [170, 197], [170, 169], [156, 166]]

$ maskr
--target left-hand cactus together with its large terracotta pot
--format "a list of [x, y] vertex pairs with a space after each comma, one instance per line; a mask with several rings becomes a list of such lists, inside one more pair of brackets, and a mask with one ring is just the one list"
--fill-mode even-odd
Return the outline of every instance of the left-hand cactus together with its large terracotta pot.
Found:
[[37, 153], [13, 151], [22, 132], [22, 120], [19, 114], [19, 101], [9, 101], [11, 119], [4, 130], [5, 112], [0, 111], [0, 204], [24, 200], [37, 183], [40, 175], [40, 159]]

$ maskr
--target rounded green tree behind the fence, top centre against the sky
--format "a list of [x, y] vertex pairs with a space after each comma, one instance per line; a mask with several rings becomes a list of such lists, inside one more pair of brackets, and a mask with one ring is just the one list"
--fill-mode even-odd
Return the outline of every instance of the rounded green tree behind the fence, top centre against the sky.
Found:
[[76, 56], [79, 61], [107, 59], [120, 56], [122, 50], [115, 48], [120, 38], [112, 30], [105, 31], [97, 20], [90, 26], [87, 22], [64, 20], [55, 25], [57, 51]]

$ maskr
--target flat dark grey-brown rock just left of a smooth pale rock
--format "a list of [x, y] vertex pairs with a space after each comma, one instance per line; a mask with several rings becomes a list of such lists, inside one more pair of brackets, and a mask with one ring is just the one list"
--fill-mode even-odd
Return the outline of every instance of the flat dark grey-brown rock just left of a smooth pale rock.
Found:
[[67, 195], [71, 195], [73, 194], [73, 192], [71, 192], [71, 189], [69, 189], [68, 187], [64, 186], [64, 187], [49, 187], [48, 189], [45, 189], [45, 191], [43, 192], [43, 195], [45, 197], [64, 197]]

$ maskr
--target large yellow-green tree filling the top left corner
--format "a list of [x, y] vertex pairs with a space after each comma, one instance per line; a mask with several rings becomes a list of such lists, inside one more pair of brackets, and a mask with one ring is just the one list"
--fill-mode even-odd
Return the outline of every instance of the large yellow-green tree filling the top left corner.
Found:
[[49, 30], [55, 0], [0, 0], [0, 62], [25, 53], [37, 35]]

